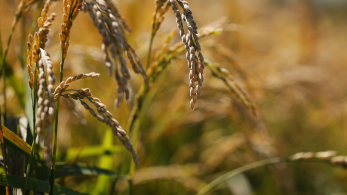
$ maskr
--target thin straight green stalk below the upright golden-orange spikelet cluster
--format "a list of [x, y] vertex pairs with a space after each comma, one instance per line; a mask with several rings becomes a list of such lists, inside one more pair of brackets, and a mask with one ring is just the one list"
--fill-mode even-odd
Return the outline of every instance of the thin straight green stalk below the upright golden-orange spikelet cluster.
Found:
[[[60, 63], [60, 82], [63, 79], [63, 67], [64, 67], [64, 59], [63, 59], [64, 51], [61, 51], [61, 63]], [[57, 158], [57, 135], [58, 135], [58, 118], [59, 118], [59, 104], [60, 98], [57, 101], [57, 106], [55, 108], [55, 127], [54, 127], [54, 145], [53, 145], [53, 163], [50, 171], [49, 178], [49, 195], [54, 195], [54, 178], [55, 178], [55, 161]]]

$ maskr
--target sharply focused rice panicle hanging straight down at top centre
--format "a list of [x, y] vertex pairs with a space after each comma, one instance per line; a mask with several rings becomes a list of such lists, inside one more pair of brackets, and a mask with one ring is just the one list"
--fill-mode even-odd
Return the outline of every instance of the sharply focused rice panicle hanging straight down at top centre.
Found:
[[[201, 47], [199, 44], [199, 37], [197, 35], [196, 22], [193, 19], [193, 12], [190, 10], [188, 2], [181, 0], [170, 0], [172, 3], [172, 10], [176, 15], [177, 27], [180, 29], [180, 36], [182, 37], [182, 42], [185, 43], [185, 50], [187, 51], [186, 58], [188, 61], [189, 72], [189, 87], [190, 96], [192, 97], [190, 101], [190, 108], [193, 110], [195, 103], [197, 101], [197, 96], [201, 95], [201, 86], [203, 82], [203, 69], [204, 58], [201, 53]], [[184, 11], [181, 16], [178, 5], [180, 5]], [[188, 27], [187, 34], [184, 33], [183, 21], [186, 22]], [[197, 83], [197, 85], [195, 85]]]

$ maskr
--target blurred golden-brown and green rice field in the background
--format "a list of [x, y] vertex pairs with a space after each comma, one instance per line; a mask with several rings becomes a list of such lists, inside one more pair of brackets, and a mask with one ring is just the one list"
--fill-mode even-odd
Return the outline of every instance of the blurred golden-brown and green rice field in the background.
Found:
[[[0, 0], [0, 29], [6, 45], [18, 2]], [[347, 2], [337, 0], [190, 0], [199, 29], [222, 27], [218, 35], [199, 41], [205, 59], [230, 71], [253, 100], [258, 118], [224, 83], [205, 69], [202, 96], [189, 106], [189, 68], [185, 55], [168, 64], [151, 85], [138, 125], [140, 166], [132, 173], [132, 194], [195, 194], [206, 183], [235, 168], [300, 151], [336, 150], [347, 155]], [[114, 1], [132, 32], [128, 41], [146, 62], [154, 1]], [[24, 115], [18, 94], [24, 94], [20, 58], [36, 6], [18, 24], [8, 55], [19, 87], [7, 88], [9, 115]], [[47, 51], [58, 75], [61, 1]], [[177, 29], [172, 10], [165, 14], [154, 40], [151, 62], [165, 36]], [[198, 30], [199, 31], [199, 30]], [[181, 42], [177, 33], [170, 45]], [[24, 56], [25, 57], [25, 56]], [[25, 58], [24, 58], [25, 59]], [[117, 84], [108, 76], [101, 36], [86, 13], [71, 30], [66, 77], [98, 72], [100, 77], [74, 83], [88, 87], [126, 129], [134, 97], [143, 84], [132, 74], [131, 97], [114, 108]], [[133, 73], [133, 72], [132, 72]], [[16, 80], [16, 81], [19, 81]], [[1, 84], [1, 86], [3, 86]], [[96, 122], [79, 103], [60, 104], [59, 161], [77, 162], [127, 173], [120, 168], [127, 152], [109, 129]], [[4, 106], [4, 96], [0, 95]], [[128, 130], [126, 130], [128, 131]], [[110, 138], [111, 137], [111, 138]], [[114, 145], [114, 146], [113, 146]], [[83, 156], [91, 147], [105, 154]], [[69, 177], [67, 187], [91, 194], [128, 194], [129, 183], [108, 176]], [[111, 192], [110, 192], [111, 191]], [[210, 194], [347, 194], [347, 172], [315, 163], [279, 164], [248, 171], [219, 185]]]

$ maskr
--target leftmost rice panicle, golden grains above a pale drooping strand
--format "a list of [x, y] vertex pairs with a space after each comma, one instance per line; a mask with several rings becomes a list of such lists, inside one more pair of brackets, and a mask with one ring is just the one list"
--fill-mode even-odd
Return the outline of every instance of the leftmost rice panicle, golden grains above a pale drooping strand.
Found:
[[[51, 0], [46, 1], [41, 15], [38, 18], [39, 31], [34, 36], [28, 36], [27, 49], [27, 72], [29, 74], [29, 87], [37, 92], [38, 118], [36, 130], [39, 138], [44, 142], [45, 149], [43, 159], [52, 164], [52, 129], [51, 121], [54, 112], [53, 88], [55, 84], [55, 75], [53, 73], [53, 63], [49, 54], [44, 50], [48, 41], [47, 34], [52, 21], [55, 19], [55, 13], [49, 17], [47, 12], [52, 4]], [[32, 42], [34, 41], [34, 44]], [[32, 66], [36, 64], [35, 70], [32, 72]], [[48, 80], [48, 82], [47, 82]], [[37, 91], [35, 91], [37, 90]], [[35, 100], [35, 98], [34, 98]]]

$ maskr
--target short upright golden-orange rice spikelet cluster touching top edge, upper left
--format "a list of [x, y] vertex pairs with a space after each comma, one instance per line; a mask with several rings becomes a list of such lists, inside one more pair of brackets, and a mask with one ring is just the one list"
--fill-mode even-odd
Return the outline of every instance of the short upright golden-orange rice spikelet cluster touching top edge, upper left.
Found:
[[63, 23], [60, 25], [60, 47], [62, 60], [65, 60], [70, 40], [70, 29], [82, 7], [82, 0], [63, 0]]

